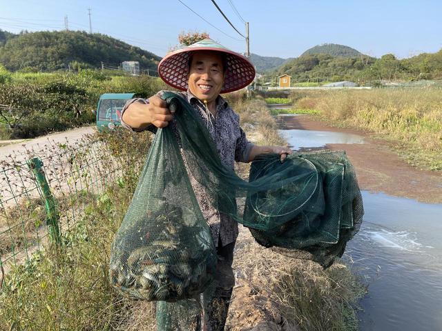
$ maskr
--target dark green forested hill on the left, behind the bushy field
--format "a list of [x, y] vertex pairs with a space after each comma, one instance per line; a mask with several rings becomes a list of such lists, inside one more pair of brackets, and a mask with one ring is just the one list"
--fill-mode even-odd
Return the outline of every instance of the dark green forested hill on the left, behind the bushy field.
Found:
[[[2, 31], [3, 32], [3, 31]], [[6, 43], [1, 43], [1, 38]], [[84, 31], [0, 32], [0, 63], [8, 70], [52, 71], [70, 66], [99, 68], [123, 61], [140, 61], [144, 69], [156, 69], [157, 55], [104, 34]]]

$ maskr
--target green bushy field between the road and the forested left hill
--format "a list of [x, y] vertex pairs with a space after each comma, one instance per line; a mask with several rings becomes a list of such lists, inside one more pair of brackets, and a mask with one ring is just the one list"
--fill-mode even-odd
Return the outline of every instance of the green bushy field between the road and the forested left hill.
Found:
[[38, 137], [93, 123], [91, 110], [103, 93], [148, 97], [166, 87], [155, 77], [129, 77], [106, 70], [16, 72], [7, 77], [0, 81], [0, 139]]

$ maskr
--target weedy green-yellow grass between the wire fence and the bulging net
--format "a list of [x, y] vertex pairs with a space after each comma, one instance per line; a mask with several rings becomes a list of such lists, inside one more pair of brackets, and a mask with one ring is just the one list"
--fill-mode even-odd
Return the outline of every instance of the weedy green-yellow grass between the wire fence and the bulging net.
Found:
[[[148, 148], [150, 141], [144, 135], [124, 137], [124, 132], [115, 137], [98, 134], [98, 138], [109, 140], [111, 152], [125, 166], [134, 154], [144, 159], [140, 151]], [[120, 152], [124, 148], [125, 152]], [[126, 169], [117, 185], [109, 182], [99, 196], [81, 197], [83, 216], [64, 232], [60, 247], [47, 246], [10, 270], [0, 290], [1, 330], [135, 330], [129, 328], [133, 312], [147, 306], [140, 308], [119, 297], [108, 281], [113, 234], [137, 182], [137, 164], [132, 162], [132, 168]], [[77, 203], [69, 205], [64, 200], [59, 203], [67, 209], [77, 207]], [[153, 325], [155, 318], [152, 314], [148, 317]]]

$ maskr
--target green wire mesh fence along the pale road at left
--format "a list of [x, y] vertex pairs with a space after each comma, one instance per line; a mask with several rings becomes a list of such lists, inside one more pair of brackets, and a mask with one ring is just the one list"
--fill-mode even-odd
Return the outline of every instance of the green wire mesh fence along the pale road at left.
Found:
[[[73, 228], [91, 199], [122, 177], [100, 139], [47, 143], [0, 161], [0, 280]], [[1, 284], [1, 283], [0, 283]]]

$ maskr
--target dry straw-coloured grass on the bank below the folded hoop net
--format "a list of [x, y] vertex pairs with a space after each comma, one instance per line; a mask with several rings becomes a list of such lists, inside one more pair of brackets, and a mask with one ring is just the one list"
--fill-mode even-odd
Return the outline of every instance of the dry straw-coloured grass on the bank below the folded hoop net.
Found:
[[[346, 265], [323, 270], [317, 263], [284, 257], [258, 245], [246, 228], [237, 245], [234, 268], [240, 280], [229, 330], [249, 330], [266, 321], [292, 325], [287, 330], [358, 329], [354, 308], [365, 288]], [[250, 314], [244, 314], [244, 305]]]

